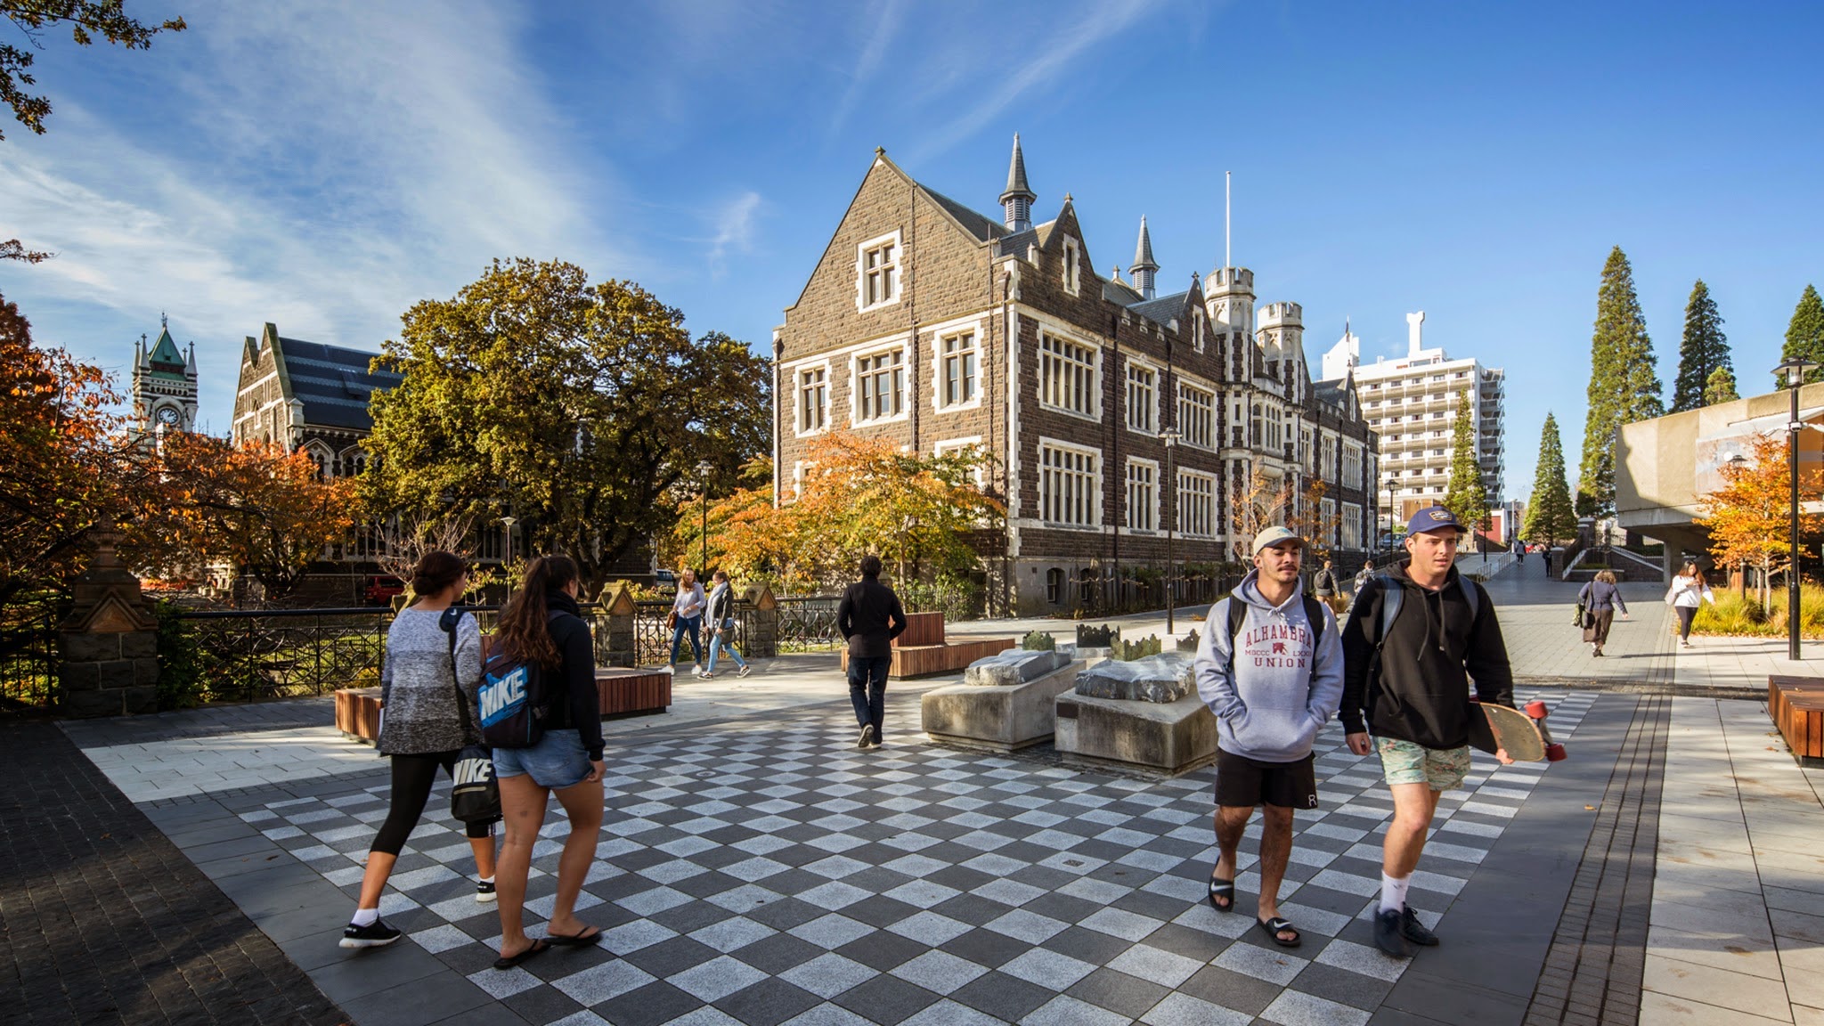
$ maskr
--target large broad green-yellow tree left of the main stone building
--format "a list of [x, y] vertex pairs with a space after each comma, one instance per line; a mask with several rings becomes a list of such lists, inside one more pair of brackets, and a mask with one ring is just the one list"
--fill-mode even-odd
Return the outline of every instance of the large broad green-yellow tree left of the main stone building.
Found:
[[[562, 551], [586, 582], [668, 531], [673, 489], [731, 491], [770, 445], [770, 367], [631, 281], [494, 261], [452, 299], [412, 307], [376, 365], [374, 517], [520, 520], [527, 551]], [[724, 482], [724, 484], [719, 484]]]

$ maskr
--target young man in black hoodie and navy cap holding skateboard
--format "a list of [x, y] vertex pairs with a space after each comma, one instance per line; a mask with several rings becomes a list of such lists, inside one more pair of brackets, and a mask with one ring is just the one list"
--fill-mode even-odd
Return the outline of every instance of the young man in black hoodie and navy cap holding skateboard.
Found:
[[[1373, 940], [1401, 958], [1412, 953], [1408, 944], [1437, 944], [1406, 904], [1406, 885], [1437, 798], [1461, 787], [1470, 769], [1468, 725], [1481, 714], [1474, 703], [1514, 705], [1514, 674], [1494, 604], [1481, 584], [1457, 577], [1459, 529], [1443, 506], [1419, 509], [1406, 524], [1412, 560], [1370, 581], [1342, 628], [1344, 739], [1357, 756], [1379, 750], [1394, 790]], [[1394, 588], [1399, 610], [1383, 637], [1381, 612]], [[1472, 677], [1479, 699], [1470, 694]], [[1496, 758], [1512, 761], [1507, 752]]]

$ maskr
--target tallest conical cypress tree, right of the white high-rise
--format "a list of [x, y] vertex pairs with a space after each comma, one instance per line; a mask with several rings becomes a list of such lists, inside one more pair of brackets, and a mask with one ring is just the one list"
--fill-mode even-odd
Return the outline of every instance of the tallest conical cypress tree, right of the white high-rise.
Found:
[[1607, 517], [1614, 511], [1614, 433], [1623, 424], [1665, 413], [1658, 369], [1634, 294], [1634, 270], [1622, 246], [1614, 246], [1596, 292], [1589, 414], [1583, 420], [1583, 464], [1578, 467], [1580, 515]]

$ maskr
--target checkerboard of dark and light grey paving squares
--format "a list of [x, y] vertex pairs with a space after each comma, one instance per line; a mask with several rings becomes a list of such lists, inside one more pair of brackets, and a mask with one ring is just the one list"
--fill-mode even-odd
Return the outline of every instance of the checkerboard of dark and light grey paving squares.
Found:
[[[1525, 697], [1552, 703], [1560, 738], [1594, 701]], [[1373, 949], [1368, 918], [1392, 801], [1375, 758], [1352, 756], [1335, 723], [1319, 741], [1321, 807], [1295, 814], [1280, 891], [1299, 949], [1253, 927], [1255, 842], [1242, 845], [1240, 909], [1204, 900], [1215, 770], [1151, 781], [896, 738], [857, 752], [852, 719], [828, 710], [611, 750], [578, 902], [606, 931], [600, 947], [492, 969], [498, 918], [474, 900], [469, 845], [441, 816], [412, 834], [381, 915], [529, 1022], [564, 1026], [1361, 1024], [1406, 966]], [[1414, 876], [1421, 918], [1435, 926], [1541, 772], [1476, 754]], [[440, 789], [432, 809], [445, 800]], [[379, 785], [243, 818], [354, 907], [385, 814]], [[534, 935], [565, 831], [553, 807], [527, 893]]]

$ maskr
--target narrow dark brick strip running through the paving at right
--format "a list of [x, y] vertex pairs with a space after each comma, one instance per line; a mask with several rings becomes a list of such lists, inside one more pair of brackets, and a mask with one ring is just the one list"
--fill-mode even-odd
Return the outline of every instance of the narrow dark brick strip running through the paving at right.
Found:
[[1636, 707], [1527, 1026], [1629, 1026], [1640, 1019], [1669, 710], [1665, 696]]

